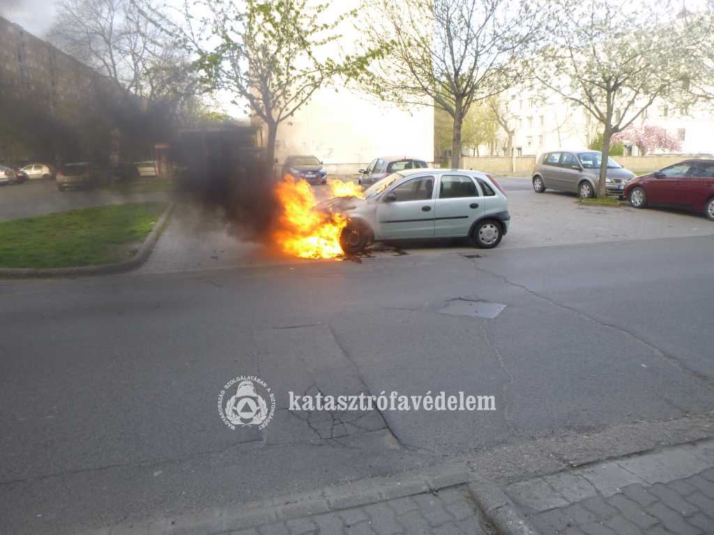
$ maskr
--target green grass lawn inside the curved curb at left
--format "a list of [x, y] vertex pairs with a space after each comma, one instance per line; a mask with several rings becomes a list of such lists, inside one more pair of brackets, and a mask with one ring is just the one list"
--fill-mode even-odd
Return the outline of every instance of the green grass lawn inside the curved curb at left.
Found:
[[133, 203], [0, 223], [0, 267], [77, 267], [129, 260], [169, 203]]

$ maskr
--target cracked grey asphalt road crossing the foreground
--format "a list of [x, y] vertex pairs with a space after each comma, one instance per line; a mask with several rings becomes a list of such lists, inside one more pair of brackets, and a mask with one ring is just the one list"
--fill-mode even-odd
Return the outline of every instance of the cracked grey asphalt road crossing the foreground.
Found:
[[[714, 236], [437, 253], [0, 280], [0, 532], [141, 525], [714, 409]], [[506, 308], [440, 313], [458, 299]], [[276, 394], [262, 431], [218, 415], [248, 374]], [[288, 392], [393, 391], [496, 410], [288, 410]]]

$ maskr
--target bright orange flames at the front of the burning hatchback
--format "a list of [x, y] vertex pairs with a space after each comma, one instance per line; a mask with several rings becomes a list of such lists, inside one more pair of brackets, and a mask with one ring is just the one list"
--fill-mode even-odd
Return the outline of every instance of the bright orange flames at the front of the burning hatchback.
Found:
[[[361, 186], [329, 180], [333, 197], [362, 197]], [[313, 189], [305, 180], [286, 176], [276, 185], [276, 197], [283, 206], [278, 229], [273, 233], [283, 251], [300, 258], [333, 258], [343, 255], [340, 234], [347, 218], [339, 213], [324, 214], [312, 210], [316, 205]]]

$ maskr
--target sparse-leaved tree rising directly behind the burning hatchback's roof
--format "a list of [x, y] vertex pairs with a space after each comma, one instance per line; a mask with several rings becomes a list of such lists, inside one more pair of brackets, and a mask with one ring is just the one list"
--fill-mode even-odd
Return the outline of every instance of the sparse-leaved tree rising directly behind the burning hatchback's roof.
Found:
[[363, 0], [364, 91], [403, 108], [438, 106], [453, 118], [453, 165], [474, 102], [501, 93], [521, 73], [540, 30], [527, 0]]

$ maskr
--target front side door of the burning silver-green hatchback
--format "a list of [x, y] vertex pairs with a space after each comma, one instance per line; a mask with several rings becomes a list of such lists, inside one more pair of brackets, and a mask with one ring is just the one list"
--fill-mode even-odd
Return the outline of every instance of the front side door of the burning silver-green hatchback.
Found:
[[[376, 214], [378, 238], [433, 237], [434, 181], [432, 175], [409, 178], [381, 196]], [[396, 200], [389, 201], [391, 195]]]

